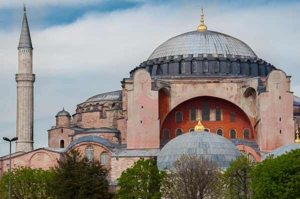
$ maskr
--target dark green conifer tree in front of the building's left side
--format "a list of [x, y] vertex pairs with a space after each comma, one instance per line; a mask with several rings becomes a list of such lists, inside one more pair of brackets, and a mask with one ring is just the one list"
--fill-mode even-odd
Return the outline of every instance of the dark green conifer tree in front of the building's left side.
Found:
[[112, 198], [109, 192], [108, 170], [98, 160], [81, 157], [78, 150], [58, 160], [53, 180], [49, 184], [52, 196], [57, 199]]

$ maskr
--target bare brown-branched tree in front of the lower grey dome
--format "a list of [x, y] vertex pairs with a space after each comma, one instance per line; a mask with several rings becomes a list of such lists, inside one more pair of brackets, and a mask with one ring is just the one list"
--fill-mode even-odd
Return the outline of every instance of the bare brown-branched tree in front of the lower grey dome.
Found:
[[220, 169], [211, 158], [183, 154], [168, 169], [164, 198], [221, 198]]

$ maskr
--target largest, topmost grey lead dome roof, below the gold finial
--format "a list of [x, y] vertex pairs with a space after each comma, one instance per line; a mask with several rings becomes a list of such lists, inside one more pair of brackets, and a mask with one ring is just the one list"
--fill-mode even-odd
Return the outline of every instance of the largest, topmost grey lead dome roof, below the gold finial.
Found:
[[216, 57], [222, 54], [223, 57], [233, 55], [239, 58], [257, 58], [253, 50], [237, 38], [210, 30], [196, 30], [168, 39], [152, 52], [148, 60], [184, 54], [213, 54]]

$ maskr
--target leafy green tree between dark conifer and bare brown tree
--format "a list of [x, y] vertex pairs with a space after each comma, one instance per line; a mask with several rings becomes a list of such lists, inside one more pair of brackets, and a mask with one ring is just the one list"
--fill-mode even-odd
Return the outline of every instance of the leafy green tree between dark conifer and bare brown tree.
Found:
[[160, 187], [164, 176], [165, 171], [158, 170], [156, 157], [140, 158], [117, 179], [120, 189], [115, 198], [161, 198]]

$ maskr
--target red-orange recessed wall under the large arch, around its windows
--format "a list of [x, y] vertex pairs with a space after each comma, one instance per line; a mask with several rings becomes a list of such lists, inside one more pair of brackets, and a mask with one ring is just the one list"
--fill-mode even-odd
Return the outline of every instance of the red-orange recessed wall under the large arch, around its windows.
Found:
[[[213, 96], [198, 96], [191, 99], [188, 99], [184, 102], [181, 102], [176, 107], [168, 112], [164, 118], [161, 128], [160, 128], [160, 137], [163, 137], [162, 129], [168, 128], [170, 130], [170, 138], [175, 137], [175, 129], [180, 127], [183, 130], [183, 133], [188, 132], [191, 126], [197, 124], [197, 120], [193, 121], [189, 119], [189, 109], [190, 106], [194, 106], [197, 109], [201, 109], [201, 105], [204, 102], [209, 102], [209, 120], [201, 121], [201, 123], [210, 129], [211, 132], [215, 133], [218, 128], [223, 129], [223, 136], [229, 139], [230, 129], [235, 129], [237, 132], [237, 138], [243, 138], [243, 129], [245, 127], [250, 129], [250, 139], [254, 136], [253, 127], [250, 119], [247, 114], [234, 103]], [[221, 120], [215, 120], [215, 107], [221, 108]], [[183, 115], [182, 122], [175, 122], [175, 113], [181, 111]], [[235, 113], [235, 120], [230, 121], [231, 112]], [[200, 115], [201, 119], [201, 115]], [[202, 120], [202, 119], [201, 119]]]

